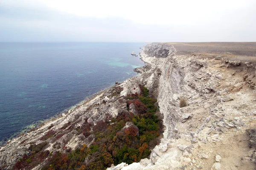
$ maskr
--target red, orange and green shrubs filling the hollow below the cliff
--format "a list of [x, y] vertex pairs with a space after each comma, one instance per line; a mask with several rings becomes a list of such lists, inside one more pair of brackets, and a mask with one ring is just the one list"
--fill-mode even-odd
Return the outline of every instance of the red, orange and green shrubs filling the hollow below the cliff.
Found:
[[[125, 110], [116, 119], [107, 116], [105, 121], [99, 121], [95, 126], [85, 120], [83, 129], [77, 129], [85, 137], [95, 135], [90, 147], [84, 144], [76, 150], [64, 147], [63, 152], [49, 153], [43, 149], [46, 145], [44, 142], [34, 144], [31, 146], [32, 153], [17, 161], [15, 169], [32, 169], [47, 157], [42, 170], [104, 170], [111, 164], [131, 164], [147, 158], [151, 153], [150, 148], [158, 144], [157, 137], [162, 125], [156, 115], [157, 100], [149, 97], [147, 88], [141, 85], [140, 89], [143, 91], [141, 95], [132, 94], [126, 98], [127, 107], [133, 104], [136, 108], [136, 116]], [[124, 128], [127, 122], [133, 125]], [[49, 130], [41, 140], [53, 134], [55, 132]], [[62, 133], [60, 135], [63, 136]]]

